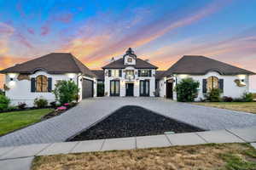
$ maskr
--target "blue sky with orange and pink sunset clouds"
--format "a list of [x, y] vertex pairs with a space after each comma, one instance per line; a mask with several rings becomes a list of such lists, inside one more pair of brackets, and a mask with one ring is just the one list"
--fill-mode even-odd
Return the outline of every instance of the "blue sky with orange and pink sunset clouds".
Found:
[[255, 0], [0, 0], [0, 70], [53, 52], [100, 69], [133, 48], [159, 70], [195, 54], [256, 72], [255, 8]]

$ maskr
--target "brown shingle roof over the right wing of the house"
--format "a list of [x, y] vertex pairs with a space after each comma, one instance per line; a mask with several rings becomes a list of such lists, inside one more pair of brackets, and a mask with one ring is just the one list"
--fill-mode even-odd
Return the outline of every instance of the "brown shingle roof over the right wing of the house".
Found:
[[222, 75], [255, 74], [252, 71], [247, 71], [204, 56], [184, 55], [182, 59], [179, 59], [177, 63], [172, 65], [164, 73], [164, 76], [166, 77], [172, 74], [205, 75], [208, 71], [218, 71]]

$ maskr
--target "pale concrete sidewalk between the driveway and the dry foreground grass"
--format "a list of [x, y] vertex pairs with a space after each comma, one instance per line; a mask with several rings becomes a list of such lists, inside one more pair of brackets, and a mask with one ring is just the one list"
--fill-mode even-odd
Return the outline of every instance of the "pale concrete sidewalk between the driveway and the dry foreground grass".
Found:
[[[84, 140], [54, 144], [30, 144], [0, 148], [0, 167], [4, 170], [29, 170], [34, 156], [105, 150], [134, 150], [175, 145], [256, 142], [256, 126], [199, 133], [177, 133], [119, 139]], [[253, 145], [253, 144], [252, 144]]]

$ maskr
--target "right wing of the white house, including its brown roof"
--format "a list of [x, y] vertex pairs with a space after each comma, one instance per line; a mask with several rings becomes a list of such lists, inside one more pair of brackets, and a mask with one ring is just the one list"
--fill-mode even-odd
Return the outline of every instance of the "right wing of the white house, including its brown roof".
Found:
[[212, 88], [220, 88], [223, 96], [232, 98], [241, 97], [243, 93], [249, 92], [249, 76], [254, 75], [233, 65], [209, 59], [204, 56], [185, 55], [167, 71], [160, 73], [159, 93], [160, 97], [177, 99], [174, 90], [177, 82], [183, 78], [191, 77], [200, 82], [198, 97], [195, 100], [204, 98]]

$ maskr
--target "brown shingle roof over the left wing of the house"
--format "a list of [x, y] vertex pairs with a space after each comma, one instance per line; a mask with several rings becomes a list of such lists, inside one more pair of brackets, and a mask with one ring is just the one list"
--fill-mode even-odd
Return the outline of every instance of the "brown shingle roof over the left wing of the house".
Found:
[[96, 75], [81, 61], [79, 61], [79, 59], [69, 53], [46, 54], [37, 59], [32, 59], [25, 63], [4, 69], [3, 71], [0, 71], [0, 73], [19, 72], [32, 74], [34, 71], [38, 71], [39, 69], [43, 69], [50, 74], [73, 72], [83, 73], [90, 77], [96, 77]]

